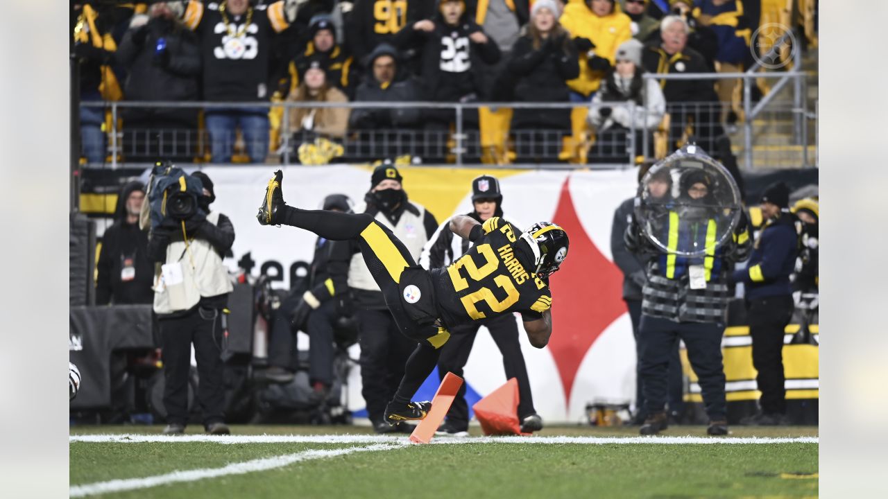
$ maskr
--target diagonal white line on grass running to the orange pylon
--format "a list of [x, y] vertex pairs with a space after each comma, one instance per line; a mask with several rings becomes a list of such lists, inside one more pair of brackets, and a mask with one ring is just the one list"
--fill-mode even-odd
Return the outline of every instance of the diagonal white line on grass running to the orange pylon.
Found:
[[71, 497], [83, 497], [84, 495], [98, 495], [107, 494], [109, 492], [122, 492], [124, 490], [156, 487], [159, 485], [166, 485], [178, 482], [189, 482], [200, 479], [211, 479], [226, 475], [242, 475], [244, 473], [250, 473], [253, 471], [274, 470], [274, 468], [282, 468], [283, 466], [287, 466], [292, 463], [298, 463], [300, 461], [323, 459], [325, 457], [347, 455], [353, 454], [355, 452], [391, 450], [394, 448], [402, 447], [403, 445], [398, 442], [397, 445], [375, 444], [369, 447], [306, 450], [304, 452], [297, 452], [295, 454], [275, 455], [274, 457], [264, 457], [261, 459], [243, 461], [241, 463], [231, 463], [221, 468], [201, 468], [197, 470], [172, 471], [170, 473], [155, 475], [153, 477], [145, 477], [139, 479], [114, 479], [86, 485], [75, 485], [70, 488], [69, 495]]

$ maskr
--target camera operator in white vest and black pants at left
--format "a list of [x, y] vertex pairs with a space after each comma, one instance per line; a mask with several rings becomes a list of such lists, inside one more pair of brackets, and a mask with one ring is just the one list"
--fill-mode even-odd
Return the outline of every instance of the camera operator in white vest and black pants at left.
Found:
[[202, 195], [190, 190], [170, 195], [170, 216], [152, 229], [148, 242], [148, 257], [163, 264], [155, 277], [154, 305], [163, 342], [163, 406], [167, 410], [163, 432], [185, 432], [194, 343], [203, 425], [210, 434], [227, 434], [220, 354], [223, 311], [233, 286], [222, 257], [234, 243], [234, 226], [225, 215], [210, 211], [216, 199], [210, 178], [200, 171], [193, 177], [201, 181]]

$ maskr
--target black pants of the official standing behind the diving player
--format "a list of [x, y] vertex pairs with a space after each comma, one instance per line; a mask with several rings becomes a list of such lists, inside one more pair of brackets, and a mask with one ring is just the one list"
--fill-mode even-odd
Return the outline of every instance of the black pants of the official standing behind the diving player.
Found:
[[[493, 321], [484, 324], [490, 331], [500, 353], [503, 354], [503, 368], [506, 379], [515, 378], [518, 381], [518, 417], [524, 419], [536, 412], [533, 395], [530, 392], [530, 379], [527, 377], [527, 365], [524, 363], [524, 354], [521, 353], [521, 345], [518, 342], [518, 323], [510, 314], [497, 317]], [[438, 374], [441, 380], [448, 371], [456, 376], [463, 377], [463, 368], [469, 360], [472, 345], [478, 335], [480, 324], [459, 326], [450, 330], [450, 340], [441, 348], [438, 360]], [[447, 419], [456, 428], [466, 429], [469, 426], [469, 405], [465, 401], [465, 384], [459, 387], [456, 399], [447, 413]]]

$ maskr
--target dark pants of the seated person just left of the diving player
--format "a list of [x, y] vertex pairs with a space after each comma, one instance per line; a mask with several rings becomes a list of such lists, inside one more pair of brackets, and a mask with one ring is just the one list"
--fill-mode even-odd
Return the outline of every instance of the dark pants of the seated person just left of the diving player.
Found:
[[[272, 366], [295, 371], [298, 365], [295, 331], [290, 325], [293, 309], [302, 298], [293, 294], [282, 303], [274, 316], [271, 337], [268, 339], [268, 363]], [[312, 383], [333, 384], [333, 321], [336, 321], [336, 303], [327, 300], [308, 313], [305, 331], [308, 333], [308, 376]]]

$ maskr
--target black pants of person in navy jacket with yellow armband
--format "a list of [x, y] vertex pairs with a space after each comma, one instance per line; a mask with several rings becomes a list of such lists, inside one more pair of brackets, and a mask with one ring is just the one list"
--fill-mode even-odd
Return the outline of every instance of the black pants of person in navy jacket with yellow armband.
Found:
[[786, 412], [783, 334], [794, 308], [790, 295], [747, 300], [752, 365], [758, 371], [756, 383], [758, 391], [762, 392], [758, 405], [765, 414]]

